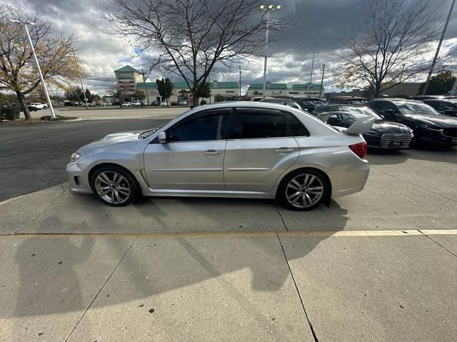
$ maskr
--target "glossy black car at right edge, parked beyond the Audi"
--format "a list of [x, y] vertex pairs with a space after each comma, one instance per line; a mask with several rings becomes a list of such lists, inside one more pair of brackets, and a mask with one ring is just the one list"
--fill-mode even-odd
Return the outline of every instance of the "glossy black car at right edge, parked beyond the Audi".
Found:
[[421, 101], [374, 99], [368, 107], [383, 116], [411, 128], [414, 141], [441, 146], [457, 146], [457, 119], [444, 116]]

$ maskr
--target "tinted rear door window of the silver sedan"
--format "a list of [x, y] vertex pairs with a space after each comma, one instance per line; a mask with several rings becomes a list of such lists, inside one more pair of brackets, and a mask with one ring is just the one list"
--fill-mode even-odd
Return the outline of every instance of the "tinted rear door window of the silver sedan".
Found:
[[289, 136], [281, 112], [243, 111], [234, 114], [233, 139], [278, 138]]

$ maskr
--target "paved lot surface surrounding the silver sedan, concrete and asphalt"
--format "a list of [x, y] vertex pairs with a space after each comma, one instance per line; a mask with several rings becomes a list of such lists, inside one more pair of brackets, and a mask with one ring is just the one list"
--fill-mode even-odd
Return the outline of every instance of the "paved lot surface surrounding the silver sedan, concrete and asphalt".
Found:
[[153, 116], [0, 126], [1, 341], [455, 341], [456, 149], [372, 152], [306, 213], [69, 194], [71, 152]]

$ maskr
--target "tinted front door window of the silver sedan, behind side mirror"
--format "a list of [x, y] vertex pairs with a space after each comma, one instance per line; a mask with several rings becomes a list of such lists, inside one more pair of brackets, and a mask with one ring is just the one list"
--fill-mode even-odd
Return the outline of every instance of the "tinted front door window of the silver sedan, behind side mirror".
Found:
[[206, 141], [221, 139], [223, 115], [210, 114], [194, 120], [186, 121], [169, 131], [169, 140], [174, 141]]

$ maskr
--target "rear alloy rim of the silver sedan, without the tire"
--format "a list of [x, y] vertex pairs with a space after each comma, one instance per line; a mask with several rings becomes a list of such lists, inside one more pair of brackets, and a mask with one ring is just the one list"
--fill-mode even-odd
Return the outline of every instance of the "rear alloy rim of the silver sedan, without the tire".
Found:
[[287, 183], [286, 199], [296, 208], [309, 208], [323, 196], [321, 179], [311, 173], [302, 173]]

